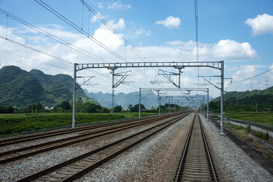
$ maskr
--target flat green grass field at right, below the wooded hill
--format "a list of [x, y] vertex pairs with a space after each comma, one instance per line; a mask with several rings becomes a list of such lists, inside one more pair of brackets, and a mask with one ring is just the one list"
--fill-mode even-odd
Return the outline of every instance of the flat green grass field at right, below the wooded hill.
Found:
[[228, 112], [225, 113], [225, 116], [233, 119], [257, 121], [264, 124], [273, 125], [273, 113]]

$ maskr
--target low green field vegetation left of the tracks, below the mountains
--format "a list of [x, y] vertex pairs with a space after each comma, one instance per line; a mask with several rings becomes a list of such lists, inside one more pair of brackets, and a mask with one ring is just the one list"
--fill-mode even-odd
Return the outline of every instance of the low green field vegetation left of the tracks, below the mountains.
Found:
[[[2, 114], [0, 116], [5, 116], [0, 117], [0, 135], [67, 126], [72, 123], [72, 114], [67, 113], [33, 113], [20, 115], [20, 117], [7, 117]], [[123, 118], [125, 118], [124, 115], [76, 113], [75, 122], [79, 124]]]

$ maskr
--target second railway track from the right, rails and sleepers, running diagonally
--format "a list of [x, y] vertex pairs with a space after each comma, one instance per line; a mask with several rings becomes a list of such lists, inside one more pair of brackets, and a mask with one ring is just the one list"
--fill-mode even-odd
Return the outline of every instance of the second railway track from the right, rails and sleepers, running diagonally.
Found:
[[149, 138], [151, 135], [163, 130], [171, 124], [186, 117], [190, 113], [180, 115], [178, 117], [168, 119], [167, 121], [132, 134], [121, 140], [112, 142], [105, 146], [94, 149], [90, 152], [74, 157], [57, 165], [48, 167], [44, 170], [38, 171], [24, 178], [18, 179], [19, 181], [73, 181], [93, 170], [111, 158], [121, 154], [127, 149], [135, 146], [136, 144]]

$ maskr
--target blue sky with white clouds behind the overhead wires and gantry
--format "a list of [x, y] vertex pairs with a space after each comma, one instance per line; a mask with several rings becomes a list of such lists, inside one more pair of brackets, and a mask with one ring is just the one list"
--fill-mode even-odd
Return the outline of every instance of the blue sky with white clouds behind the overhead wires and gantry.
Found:
[[[37, 2], [41, 3], [38, 0]], [[0, 9], [50, 32], [66, 43], [61, 44], [14, 20], [6, 13], [0, 13], [1, 67], [15, 65], [27, 71], [40, 69], [46, 74], [64, 73], [73, 76], [72, 64], [9, 40], [67, 60], [69, 63], [121, 62], [37, 2], [0, 0]], [[194, 1], [84, 1], [130, 43], [127, 45], [101, 21], [94, 18], [94, 14], [83, 6], [80, 0], [43, 2], [128, 62], [142, 62], [143, 59], [151, 62], [197, 61]], [[232, 84], [229, 79], [224, 81], [224, 90], [229, 92], [264, 89], [266, 79], [267, 85], [271, 86], [273, 70], [252, 79], [241, 80], [273, 68], [273, 1], [197, 1], [197, 5], [199, 61], [224, 60], [224, 77], [233, 78]], [[76, 45], [77, 48], [67, 47], [65, 44]], [[130, 45], [141, 53], [142, 59], [130, 50]], [[93, 58], [95, 55], [96, 60], [77, 52], [78, 48], [88, 52], [88, 55], [93, 55]], [[116, 73], [128, 70], [132, 71], [127, 80], [134, 83], [121, 84], [115, 88], [116, 93], [135, 92], [139, 87], [174, 87], [171, 83], [150, 83], [157, 76], [158, 68], [120, 69], [116, 70]], [[166, 70], [178, 72], [171, 68]], [[201, 86], [197, 84], [204, 83], [204, 79], [198, 78], [198, 74], [220, 75], [219, 70], [209, 68], [185, 68], [182, 71], [181, 87]], [[109, 70], [85, 70], [79, 72], [79, 76], [95, 76], [91, 79], [94, 85], [83, 85], [89, 92], [111, 93]], [[119, 79], [117, 77], [115, 81]], [[172, 79], [178, 82], [177, 77]], [[236, 83], [237, 81], [241, 82]], [[83, 83], [84, 80], [78, 79], [77, 82]], [[219, 86], [217, 77], [213, 77], [211, 82]], [[220, 91], [213, 85], [201, 87], [209, 87], [210, 96], [220, 96]]]

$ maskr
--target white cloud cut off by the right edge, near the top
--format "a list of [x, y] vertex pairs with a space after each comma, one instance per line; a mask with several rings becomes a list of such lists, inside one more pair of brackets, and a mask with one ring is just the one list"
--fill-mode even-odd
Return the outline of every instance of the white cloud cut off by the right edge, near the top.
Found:
[[248, 18], [244, 23], [252, 27], [253, 35], [273, 34], [273, 16], [271, 15], [258, 15], [254, 19]]

